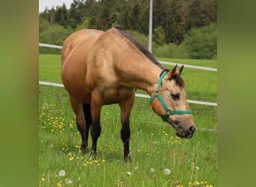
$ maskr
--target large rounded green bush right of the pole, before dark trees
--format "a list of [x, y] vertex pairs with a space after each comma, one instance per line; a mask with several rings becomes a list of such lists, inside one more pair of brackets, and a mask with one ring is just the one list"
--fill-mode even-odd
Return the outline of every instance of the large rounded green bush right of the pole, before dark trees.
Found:
[[184, 43], [190, 58], [212, 59], [217, 55], [216, 24], [201, 28], [192, 28], [186, 34]]

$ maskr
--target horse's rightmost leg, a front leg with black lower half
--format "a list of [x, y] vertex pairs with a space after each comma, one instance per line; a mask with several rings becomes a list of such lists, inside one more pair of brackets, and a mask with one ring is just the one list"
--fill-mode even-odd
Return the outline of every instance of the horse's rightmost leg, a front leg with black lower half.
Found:
[[132, 105], [134, 103], [135, 96], [133, 95], [129, 99], [122, 100], [119, 105], [121, 108], [121, 139], [124, 143], [124, 162], [131, 162], [129, 156], [129, 140], [130, 140], [130, 129], [129, 129], [129, 117], [132, 111]]

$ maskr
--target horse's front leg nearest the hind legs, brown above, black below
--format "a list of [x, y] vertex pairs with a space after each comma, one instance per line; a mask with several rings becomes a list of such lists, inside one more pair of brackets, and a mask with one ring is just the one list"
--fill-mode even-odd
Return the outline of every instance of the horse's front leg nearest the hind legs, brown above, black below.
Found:
[[102, 108], [103, 102], [100, 94], [94, 93], [91, 97], [91, 155], [97, 155], [97, 140], [100, 137], [101, 126], [100, 126], [100, 111]]

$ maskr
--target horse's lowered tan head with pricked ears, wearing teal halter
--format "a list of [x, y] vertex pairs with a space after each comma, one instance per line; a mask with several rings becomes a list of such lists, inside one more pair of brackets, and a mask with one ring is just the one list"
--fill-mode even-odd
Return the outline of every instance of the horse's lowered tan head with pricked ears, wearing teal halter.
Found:
[[176, 67], [177, 65], [171, 71], [162, 72], [156, 92], [150, 98], [150, 104], [156, 114], [176, 129], [176, 135], [192, 138], [195, 122], [186, 102], [185, 83], [180, 77], [183, 66], [177, 71]]

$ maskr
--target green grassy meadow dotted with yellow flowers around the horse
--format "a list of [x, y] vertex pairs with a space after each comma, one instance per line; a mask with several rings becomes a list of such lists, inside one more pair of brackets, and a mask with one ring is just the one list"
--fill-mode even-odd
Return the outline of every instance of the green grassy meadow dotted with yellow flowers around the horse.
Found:
[[[217, 67], [216, 61], [159, 60]], [[60, 55], [39, 56], [40, 81], [61, 83], [60, 69]], [[185, 67], [182, 76], [187, 99], [216, 102], [216, 72]], [[153, 112], [149, 99], [136, 97], [132, 162], [124, 163], [118, 105], [103, 106], [97, 159], [79, 151], [81, 139], [64, 88], [40, 85], [38, 105], [39, 186], [217, 186], [216, 106], [189, 104], [197, 130], [182, 139]]]

